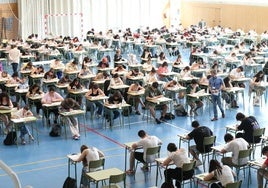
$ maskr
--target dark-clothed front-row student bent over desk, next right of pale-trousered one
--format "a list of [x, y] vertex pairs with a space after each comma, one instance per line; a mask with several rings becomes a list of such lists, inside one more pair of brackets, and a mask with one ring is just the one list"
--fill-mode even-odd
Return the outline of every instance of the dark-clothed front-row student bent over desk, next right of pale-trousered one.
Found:
[[[112, 105], [112, 104], [120, 104], [123, 102], [123, 97], [120, 93], [120, 91], [115, 91], [114, 94], [112, 94], [108, 101], [106, 102], [106, 105]], [[118, 118], [120, 115], [118, 110], [113, 110], [112, 117], [109, 117], [108, 114], [106, 114], [106, 119], [110, 123], [110, 126], [112, 126], [112, 119]]]

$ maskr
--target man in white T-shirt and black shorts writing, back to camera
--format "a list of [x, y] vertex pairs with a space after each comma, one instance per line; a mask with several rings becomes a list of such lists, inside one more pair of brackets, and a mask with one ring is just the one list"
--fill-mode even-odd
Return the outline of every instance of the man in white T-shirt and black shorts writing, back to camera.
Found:
[[[126, 171], [128, 175], [134, 174], [135, 159], [143, 163], [142, 170], [148, 171], [148, 162], [155, 160], [154, 156], [146, 156], [146, 150], [150, 147], [156, 147], [162, 144], [162, 141], [156, 136], [150, 136], [144, 130], [139, 130], [138, 136], [141, 138], [140, 141], [134, 143], [131, 146], [131, 153], [129, 157], [129, 169]], [[142, 148], [143, 152], [138, 152], [135, 149]]]

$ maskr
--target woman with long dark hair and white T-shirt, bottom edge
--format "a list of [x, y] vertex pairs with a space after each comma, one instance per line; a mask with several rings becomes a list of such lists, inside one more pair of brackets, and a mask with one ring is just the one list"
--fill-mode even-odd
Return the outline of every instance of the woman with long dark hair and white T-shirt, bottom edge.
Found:
[[210, 160], [209, 174], [204, 177], [204, 181], [217, 179], [219, 182], [212, 183], [210, 188], [224, 188], [228, 183], [234, 183], [234, 171], [227, 165], [221, 165], [217, 160]]

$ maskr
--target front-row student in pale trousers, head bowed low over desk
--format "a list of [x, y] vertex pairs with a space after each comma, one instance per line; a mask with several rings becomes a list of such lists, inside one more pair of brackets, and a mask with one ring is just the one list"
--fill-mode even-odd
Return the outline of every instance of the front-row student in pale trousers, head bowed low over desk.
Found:
[[[60, 111], [61, 112], [71, 112], [72, 110], [79, 110], [81, 106], [72, 98], [66, 98], [61, 102]], [[72, 137], [74, 140], [79, 140], [79, 127], [78, 120], [74, 116], [64, 117], [67, 121], [67, 124], [70, 127]]]

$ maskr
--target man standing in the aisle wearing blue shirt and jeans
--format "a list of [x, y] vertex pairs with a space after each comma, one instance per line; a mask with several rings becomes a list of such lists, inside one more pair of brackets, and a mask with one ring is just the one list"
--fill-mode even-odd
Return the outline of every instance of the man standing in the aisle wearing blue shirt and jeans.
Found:
[[217, 71], [215, 69], [212, 69], [210, 71], [210, 74], [211, 78], [209, 79], [209, 91], [211, 92], [211, 99], [213, 103], [213, 112], [214, 112], [214, 117], [211, 119], [211, 121], [217, 121], [218, 120], [217, 106], [221, 111], [222, 118], [225, 118], [225, 113], [221, 104], [221, 90], [224, 87], [224, 84], [222, 79], [220, 77], [217, 77]]

